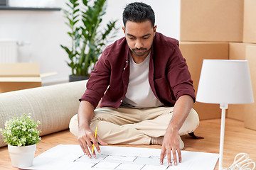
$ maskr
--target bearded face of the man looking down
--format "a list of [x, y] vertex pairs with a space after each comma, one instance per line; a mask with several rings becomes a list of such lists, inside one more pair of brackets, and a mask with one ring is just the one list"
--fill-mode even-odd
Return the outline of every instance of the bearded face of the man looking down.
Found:
[[132, 57], [145, 58], [153, 43], [156, 33], [156, 26], [153, 27], [150, 21], [136, 23], [127, 21], [124, 30], [129, 49], [132, 51]]

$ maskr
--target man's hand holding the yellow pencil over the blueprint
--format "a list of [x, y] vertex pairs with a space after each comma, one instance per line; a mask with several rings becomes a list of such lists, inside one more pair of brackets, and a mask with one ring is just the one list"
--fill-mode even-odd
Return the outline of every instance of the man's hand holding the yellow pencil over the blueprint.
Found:
[[[95, 149], [92, 152], [92, 155], [90, 154], [90, 151], [92, 151], [92, 145], [94, 144], [97, 152], [100, 153], [100, 145], [107, 145], [106, 142], [103, 142], [100, 137], [97, 135], [95, 139], [95, 132], [89, 129], [79, 129], [78, 130], [78, 142], [80, 147], [82, 148], [82, 151], [88, 156], [88, 157], [96, 157]], [[89, 150], [90, 149], [90, 150]]]

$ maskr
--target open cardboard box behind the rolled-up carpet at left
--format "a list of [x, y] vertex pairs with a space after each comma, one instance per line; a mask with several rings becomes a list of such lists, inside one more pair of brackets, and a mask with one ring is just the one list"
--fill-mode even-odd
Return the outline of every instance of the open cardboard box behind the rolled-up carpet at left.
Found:
[[0, 93], [41, 85], [38, 63], [0, 64]]

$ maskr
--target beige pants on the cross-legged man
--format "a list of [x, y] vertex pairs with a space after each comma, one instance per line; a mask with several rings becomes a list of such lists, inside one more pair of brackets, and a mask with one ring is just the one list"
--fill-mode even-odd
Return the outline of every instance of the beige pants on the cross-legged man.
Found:
[[[151, 137], [164, 136], [174, 108], [97, 108], [90, 128], [98, 127], [97, 135], [108, 144], [149, 145]], [[178, 131], [179, 135], [193, 132], [199, 125], [196, 111], [191, 112]], [[78, 115], [70, 120], [70, 132], [78, 136]]]

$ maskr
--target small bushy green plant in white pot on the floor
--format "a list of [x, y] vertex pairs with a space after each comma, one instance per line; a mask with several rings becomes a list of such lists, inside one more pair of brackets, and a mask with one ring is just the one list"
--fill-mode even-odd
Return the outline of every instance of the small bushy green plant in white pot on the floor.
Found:
[[31, 113], [23, 113], [21, 117], [14, 117], [4, 123], [0, 129], [4, 142], [8, 144], [11, 164], [14, 167], [26, 168], [33, 164], [36, 144], [41, 140], [37, 130], [39, 121], [34, 122]]

